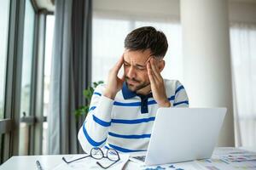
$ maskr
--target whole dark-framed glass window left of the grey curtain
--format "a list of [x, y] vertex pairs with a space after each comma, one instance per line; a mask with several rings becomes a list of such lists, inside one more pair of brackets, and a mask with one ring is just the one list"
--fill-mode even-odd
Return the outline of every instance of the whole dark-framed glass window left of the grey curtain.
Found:
[[[1, 126], [6, 127], [4, 131], [0, 129], [0, 163], [13, 155], [41, 154], [43, 133], [41, 106], [43, 97], [47, 96], [47, 94], [44, 96], [41, 94], [44, 88], [45, 93], [49, 91], [49, 54], [51, 52], [48, 51], [51, 49], [41, 50], [45, 43], [45, 17], [48, 12], [38, 10], [32, 0], [9, 2], [9, 0], [0, 1], [0, 123]], [[48, 18], [52, 20], [54, 17]], [[48, 23], [47, 20], [47, 25]], [[48, 30], [53, 31], [53, 24], [48, 27]], [[48, 32], [47, 35], [49, 35]], [[49, 38], [46, 38], [46, 42], [46, 48], [51, 47], [52, 40], [49, 41]], [[44, 88], [42, 88], [43, 71], [46, 77]], [[45, 103], [47, 105], [47, 97], [44, 98], [46, 99], [44, 105]], [[44, 110], [46, 113], [47, 109], [44, 108]], [[34, 122], [35, 118], [40, 121]], [[19, 127], [13, 128], [13, 122], [20, 122]], [[44, 135], [45, 132], [44, 130]], [[44, 141], [46, 141], [45, 137]]]

